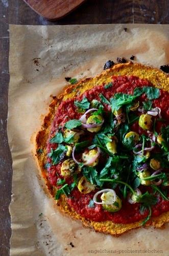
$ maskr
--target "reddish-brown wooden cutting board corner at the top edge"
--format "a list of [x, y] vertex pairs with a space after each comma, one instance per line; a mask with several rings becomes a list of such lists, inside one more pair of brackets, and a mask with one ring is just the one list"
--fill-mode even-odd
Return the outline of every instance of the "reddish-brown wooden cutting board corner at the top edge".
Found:
[[56, 20], [76, 9], [86, 0], [23, 0], [35, 12], [49, 20]]

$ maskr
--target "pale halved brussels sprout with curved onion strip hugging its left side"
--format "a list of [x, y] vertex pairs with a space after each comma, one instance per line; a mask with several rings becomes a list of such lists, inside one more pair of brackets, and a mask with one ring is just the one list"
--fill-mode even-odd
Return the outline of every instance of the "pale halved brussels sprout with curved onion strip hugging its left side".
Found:
[[[98, 156], [96, 157], [96, 155], [98, 155]], [[92, 161], [92, 159], [94, 159], [95, 157], [96, 157], [96, 159], [94, 161]], [[97, 165], [99, 162], [98, 150], [93, 149], [93, 150], [85, 151], [82, 154], [82, 160], [87, 166]]]

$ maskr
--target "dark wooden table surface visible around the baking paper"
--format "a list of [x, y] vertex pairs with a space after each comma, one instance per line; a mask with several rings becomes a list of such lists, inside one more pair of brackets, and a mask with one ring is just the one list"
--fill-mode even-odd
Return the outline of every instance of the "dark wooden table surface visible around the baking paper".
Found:
[[169, 24], [169, 0], [88, 0], [57, 22], [49, 22], [22, 0], [0, 1], [0, 255], [9, 255], [12, 159], [7, 138], [9, 26], [146, 23]]

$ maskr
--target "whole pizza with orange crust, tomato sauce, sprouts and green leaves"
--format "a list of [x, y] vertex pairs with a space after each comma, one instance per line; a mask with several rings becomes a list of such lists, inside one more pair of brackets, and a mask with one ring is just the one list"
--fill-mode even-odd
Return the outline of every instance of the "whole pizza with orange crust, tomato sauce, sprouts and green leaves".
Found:
[[53, 97], [36, 136], [47, 189], [67, 216], [114, 236], [169, 221], [169, 77], [119, 63]]

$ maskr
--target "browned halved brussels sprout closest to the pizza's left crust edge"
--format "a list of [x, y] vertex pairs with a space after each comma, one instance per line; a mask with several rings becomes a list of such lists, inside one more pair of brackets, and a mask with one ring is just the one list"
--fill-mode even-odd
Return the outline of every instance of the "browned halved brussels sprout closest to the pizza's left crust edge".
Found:
[[65, 160], [61, 166], [61, 175], [68, 177], [81, 172], [81, 168], [78, 164], [71, 158]]

